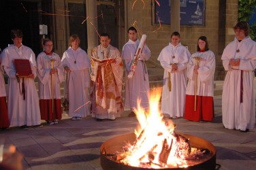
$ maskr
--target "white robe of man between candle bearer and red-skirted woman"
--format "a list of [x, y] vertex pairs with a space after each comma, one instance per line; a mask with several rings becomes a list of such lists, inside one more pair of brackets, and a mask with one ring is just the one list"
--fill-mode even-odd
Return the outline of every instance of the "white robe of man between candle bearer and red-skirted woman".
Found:
[[[175, 58], [172, 58], [175, 56]], [[173, 46], [169, 43], [161, 50], [159, 57], [161, 66], [163, 67], [163, 91], [161, 97], [161, 112], [169, 114], [170, 117], [182, 117], [185, 112], [185, 97], [187, 87], [187, 63], [189, 62], [190, 52], [180, 43]], [[178, 70], [172, 71], [171, 63], [178, 63]], [[168, 72], [170, 72], [170, 80], [172, 90], [169, 91]]]

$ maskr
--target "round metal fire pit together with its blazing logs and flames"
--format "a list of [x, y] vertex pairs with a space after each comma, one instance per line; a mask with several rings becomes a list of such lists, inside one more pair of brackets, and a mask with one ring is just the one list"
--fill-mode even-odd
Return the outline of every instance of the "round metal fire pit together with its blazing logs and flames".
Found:
[[174, 132], [176, 125], [159, 111], [159, 88], [151, 91], [150, 108], [135, 109], [134, 133], [108, 139], [101, 146], [103, 169], [215, 169], [214, 146], [199, 137]]

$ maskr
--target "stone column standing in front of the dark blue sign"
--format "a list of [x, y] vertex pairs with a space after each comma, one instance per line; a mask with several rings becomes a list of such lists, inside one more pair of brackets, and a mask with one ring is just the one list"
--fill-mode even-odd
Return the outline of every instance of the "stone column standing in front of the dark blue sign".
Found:
[[171, 0], [171, 33], [180, 32], [180, 0]]

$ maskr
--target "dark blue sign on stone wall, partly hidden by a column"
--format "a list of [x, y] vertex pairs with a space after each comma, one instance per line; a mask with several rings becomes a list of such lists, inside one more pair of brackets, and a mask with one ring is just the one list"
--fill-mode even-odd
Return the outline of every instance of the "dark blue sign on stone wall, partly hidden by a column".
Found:
[[[155, 3], [155, 23], [170, 24], [170, 11], [172, 0], [158, 0]], [[180, 25], [204, 26], [204, 0], [180, 0]]]

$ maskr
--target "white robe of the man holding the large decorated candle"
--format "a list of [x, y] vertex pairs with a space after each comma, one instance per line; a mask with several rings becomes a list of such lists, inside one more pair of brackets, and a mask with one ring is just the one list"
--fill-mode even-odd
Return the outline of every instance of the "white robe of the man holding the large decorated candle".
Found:
[[130, 109], [137, 108], [137, 101], [140, 99], [140, 106], [148, 109], [149, 107], [149, 81], [148, 72], [146, 69], [146, 63], [150, 58], [151, 52], [149, 48], [144, 45], [142, 54], [140, 54], [140, 61], [135, 67], [135, 74], [132, 78], [127, 80], [127, 75], [130, 71], [131, 64], [135, 55], [135, 52], [140, 44], [140, 40], [129, 41], [123, 46], [122, 57], [125, 60], [125, 107]]

